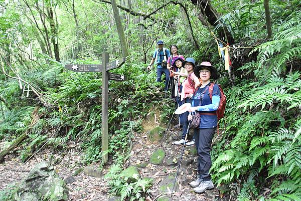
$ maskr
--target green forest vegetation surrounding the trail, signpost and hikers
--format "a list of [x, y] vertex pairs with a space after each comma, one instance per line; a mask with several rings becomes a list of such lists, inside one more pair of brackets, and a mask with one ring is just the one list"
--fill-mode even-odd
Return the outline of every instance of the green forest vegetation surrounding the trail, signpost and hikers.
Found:
[[140, 120], [154, 107], [162, 123], [174, 112], [156, 70], [146, 70], [163, 40], [218, 69], [227, 105], [213, 181], [225, 191], [236, 183], [238, 200], [299, 200], [300, 22], [298, 0], [0, 0], [0, 161], [16, 146], [25, 162], [70, 140], [85, 164], [101, 161], [101, 73], [64, 64], [101, 64], [108, 52], [110, 61], [128, 55], [112, 71], [127, 80], [109, 83], [108, 153], [123, 164]]

